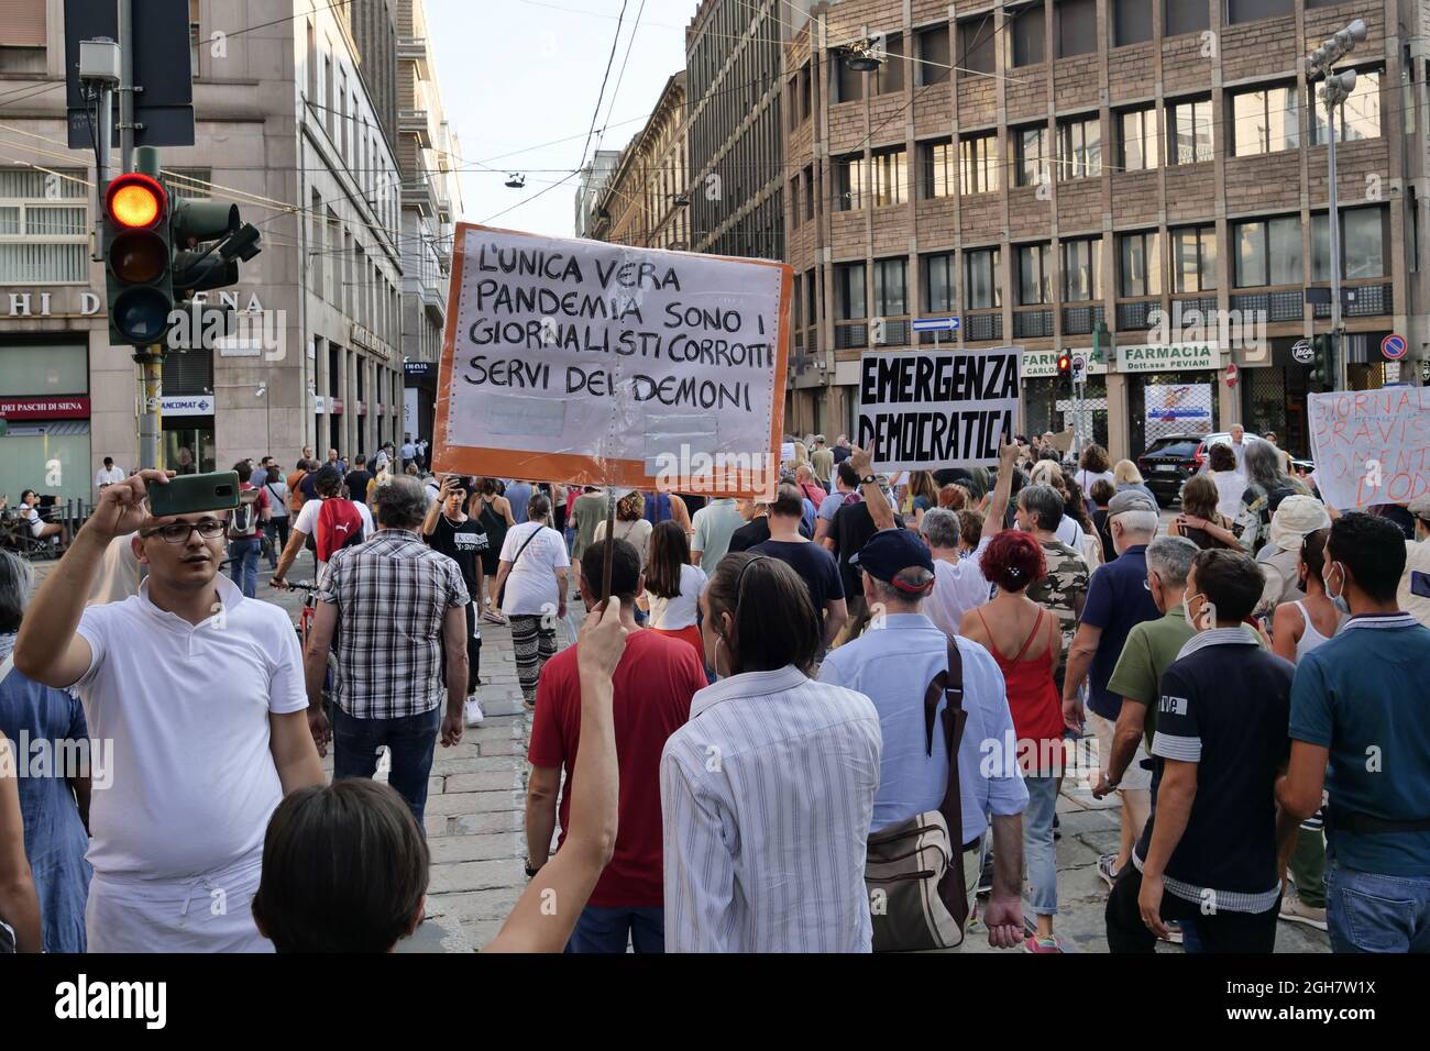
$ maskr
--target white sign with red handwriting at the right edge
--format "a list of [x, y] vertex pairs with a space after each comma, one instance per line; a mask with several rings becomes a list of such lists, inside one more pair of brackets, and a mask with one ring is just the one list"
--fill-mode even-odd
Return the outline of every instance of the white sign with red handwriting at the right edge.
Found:
[[1330, 506], [1409, 503], [1430, 492], [1430, 390], [1337, 390], [1307, 403], [1316, 486]]

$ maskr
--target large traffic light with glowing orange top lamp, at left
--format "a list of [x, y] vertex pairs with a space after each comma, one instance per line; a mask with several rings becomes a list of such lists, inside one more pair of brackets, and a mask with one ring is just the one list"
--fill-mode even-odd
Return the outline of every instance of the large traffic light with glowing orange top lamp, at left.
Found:
[[104, 287], [110, 343], [163, 339], [173, 310], [169, 194], [157, 179], [129, 172], [104, 190]]

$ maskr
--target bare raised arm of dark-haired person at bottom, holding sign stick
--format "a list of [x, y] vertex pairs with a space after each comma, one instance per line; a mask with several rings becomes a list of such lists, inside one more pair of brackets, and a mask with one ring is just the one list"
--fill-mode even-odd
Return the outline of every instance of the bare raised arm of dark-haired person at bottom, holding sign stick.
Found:
[[581, 788], [571, 799], [571, 828], [488, 947], [493, 952], [561, 952], [615, 851], [621, 778], [611, 676], [621, 663], [625, 636], [621, 602], [613, 599], [586, 616], [576, 639], [581, 748], [573, 781]]

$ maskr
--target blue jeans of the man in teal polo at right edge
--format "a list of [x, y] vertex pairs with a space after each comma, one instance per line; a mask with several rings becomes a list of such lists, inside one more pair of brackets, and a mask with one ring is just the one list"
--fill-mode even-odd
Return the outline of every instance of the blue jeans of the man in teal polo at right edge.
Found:
[[1326, 924], [1334, 952], [1430, 952], [1430, 877], [1326, 864]]

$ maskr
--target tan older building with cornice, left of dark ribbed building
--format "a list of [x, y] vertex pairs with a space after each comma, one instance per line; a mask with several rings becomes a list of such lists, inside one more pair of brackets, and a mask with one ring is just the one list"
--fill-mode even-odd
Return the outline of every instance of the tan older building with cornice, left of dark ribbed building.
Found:
[[685, 71], [672, 76], [598, 199], [591, 237], [648, 249], [691, 249], [685, 190]]

